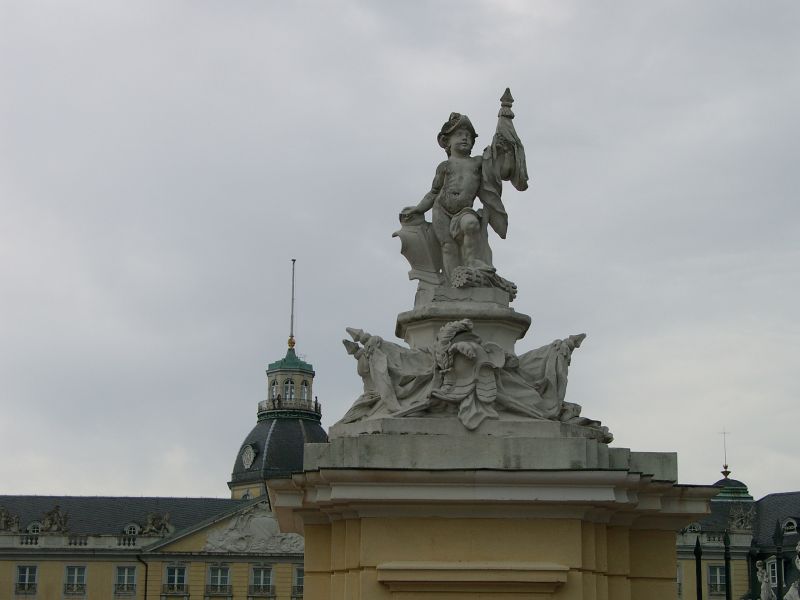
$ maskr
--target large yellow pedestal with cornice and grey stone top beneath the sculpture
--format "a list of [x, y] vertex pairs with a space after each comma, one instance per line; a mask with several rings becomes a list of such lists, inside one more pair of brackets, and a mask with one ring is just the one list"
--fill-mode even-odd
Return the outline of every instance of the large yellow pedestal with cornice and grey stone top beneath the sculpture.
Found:
[[307, 444], [304, 472], [269, 483], [305, 535], [304, 597], [675, 599], [675, 532], [714, 488], [590, 428], [486, 425], [379, 419]]

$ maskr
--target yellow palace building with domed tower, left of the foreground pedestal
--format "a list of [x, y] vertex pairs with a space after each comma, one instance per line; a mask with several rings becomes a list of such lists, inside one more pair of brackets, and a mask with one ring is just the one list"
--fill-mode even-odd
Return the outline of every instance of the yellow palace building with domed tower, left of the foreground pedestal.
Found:
[[266, 496], [302, 470], [305, 442], [327, 441], [294, 346], [267, 368], [230, 499], [0, 496], [0, 599], [301, 599], [303, 538], [279, 532]]

